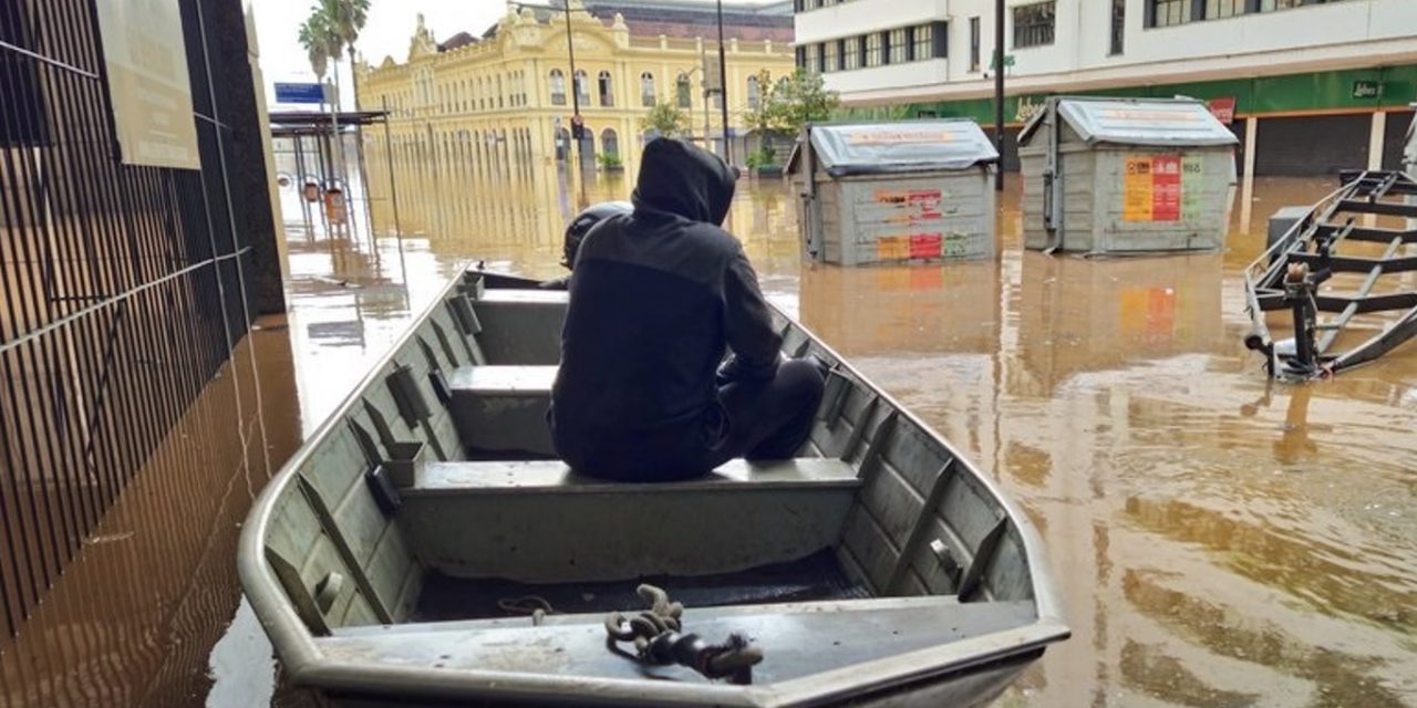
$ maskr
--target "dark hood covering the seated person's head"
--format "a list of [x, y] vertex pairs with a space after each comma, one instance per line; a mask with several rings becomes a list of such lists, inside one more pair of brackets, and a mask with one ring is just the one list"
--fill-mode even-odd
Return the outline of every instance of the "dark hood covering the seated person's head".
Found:
[[632, 201], [635, 208], [723, 225], [738, 180], [721, 157], [683, 140], [656, 137], [645, 146]]

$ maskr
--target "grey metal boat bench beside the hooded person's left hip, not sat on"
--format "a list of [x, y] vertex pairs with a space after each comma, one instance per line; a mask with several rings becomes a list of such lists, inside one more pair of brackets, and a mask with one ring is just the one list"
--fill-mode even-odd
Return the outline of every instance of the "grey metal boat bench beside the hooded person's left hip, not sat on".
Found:
[[546, 409], [554, 365], [458, 367], [448, 377], [458, 438], [473, 452], [553, 457]]

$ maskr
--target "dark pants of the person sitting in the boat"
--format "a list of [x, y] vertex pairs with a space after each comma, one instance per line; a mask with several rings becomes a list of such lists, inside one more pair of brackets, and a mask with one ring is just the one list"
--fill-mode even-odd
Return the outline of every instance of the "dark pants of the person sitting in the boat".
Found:
[[618, 481], [691, 479], [734, 457], [782, 460], [796, 455], [812, 433], [825, 385], [815, 362], [786, 361], [771, 379], [721, 387], [721, 409], [703, 425], [633, 445], [565, 440], [557, 447], [578, 473]]

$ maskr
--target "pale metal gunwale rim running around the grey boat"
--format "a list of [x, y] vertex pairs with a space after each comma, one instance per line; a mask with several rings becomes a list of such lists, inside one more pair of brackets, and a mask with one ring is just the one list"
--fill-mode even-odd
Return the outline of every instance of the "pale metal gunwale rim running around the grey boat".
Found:
[[[410, 320], [411, 326], [398, 336], [371, 365], [368, 372], [350, 389], [349, 395], [329, 413], [316, 430], [309, 435], [281, 470], [266, 483], [265, 489], [252, 503], [242, 525], [239, 544], [237, 548], [237, 571], [241, 579], [242, 592], [251, 602], [262, 629], [276, 649], [276, 657], [285, 671], [296, 685], [320, 690], [364, 690], [376, 694], [387, 692], [388, 683], [378, 684], [378, 677], [402, 683], [407, 675], [408, 683], [402, 688], [418, 695], [456, 695], [468, 698], [468, 691], [486, 698], [510, 698], [506, 691], [526, 685], [537, 688], [536, 695], [519, 695], [517, 698], [555, 698], [564, 695], [567, 688], [574, 688], [578, 702], [588, 698], [604, 700], [608, 705], [623, 705], [623, 701], [638, 701], [646, 705], [673, 705], [684, 702], [700, 705], [704, 700], [711, 700], [718, 705], [815, 705], [837, 698], [860, 695], [864, 687], [883, 687], [901, 681], [922, 681], [935, 675], [947, 675], [972, 666], [998, 661], [1009, 656], [1043, 650], [1047, 644], [1067, 639], [1071, 630], [1063, 620], [1058, 596], [1054, 589], [1051, 572], [1043, 555], [1043, 541], [1033, 527], [1033, 523], [1009, 498], [998, 484], [982, 474], [975, 464], [945, 440], [934, 428], [925, 425], [914, 412], [904, 408], [893, 395], [876, 385], [849, 360], [842, 357], [835, 348], [826, 344], [815, 331], [798, 319], [788, 316], [782, 307], [769, 302], [774, 313], [786, 320], [815, 346], [828, 354], [836, 364], [849, 372], [856, 384], [871, 391], [898, 415], [911, 422], [915, 429], [930, 440], [934, 440], [982, 484], [993, 497], [993, 501], [1010, 518], [1019, 541], [1023, 544], [1023, 558], [1027, 562], [1029, 581], [1033, 589], [1032, 602], [1036, 607], [1036, 619], [1029, 624], [1020, 624], [1002, 632], [981, 634], [948, 644], [925, 647], [904, 654], [893, 654], [873, 661], [852, 664], [850, 667], [811, 674], [771, 685], [721, 685], [721, 684], [674, 684], [669, 681], [640, 681], [604, 677], [565, 678], [558, 675], [534, 673], [509, 673], [487, 670], [459, 670], [446, 671], [436, 681], [429, 681], [427, 668], [395, 667], [387, 663], [370, 661], [364, 666], [357, 661], [334, 661], [320, 649], [319, 641], [309, 627], [299, 619], [293, 603], [286, 598], [283, 588], [275, 578], [275, 572], [266, 562], [266, 537], [278, 501], [285, 498], [286, 490], [299, 477], [303, 466], [322, 447], [322, 442], [343, 423], [350, 411], [363, 399], [364, 392], [373, 387], [385, 367], [404, 350], [417, 336], [419, 326], [432, 313], [445, 306], [449, 295], [456, 293], [469, 272], [480, 272], [468, 266], [459, 266], [456, 275], [448, 286], [435, 295], [427, 307], [417, 317]], [[1007, 637], [1007, 641], [1003, 641]], [[334, 639], [333, 636], [330, 639]], [[998, 647], [988, 649], [993, 641], [1000, 641]], [[976, 647], [976, 644], [981, 644]], [[988, 649], [983, 653], [971, 654], [971, 650]], [[918, 668], [897, 667], [890, 670], [888, 664], [900, 663], [901, 657], [915, 657], [927, 660], [928, 664]], [[863, 683], [863, 674], [870, 670], [880, 675], [871, 677], [870, 683]], [[835, 681], [833, 681], [835, 680]], [[843, 685], [837, 685], [843, 684]], [[557, 688], [558, 687], [558, 688]]]

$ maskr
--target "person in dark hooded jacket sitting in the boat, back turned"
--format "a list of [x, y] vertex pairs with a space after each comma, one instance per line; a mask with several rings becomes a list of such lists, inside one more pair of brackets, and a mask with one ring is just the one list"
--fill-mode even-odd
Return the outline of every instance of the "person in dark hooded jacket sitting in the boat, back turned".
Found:
[[686, 479], [733, 457], [791, 457], [811, 433], [822, 372], [779, 361], [757, 273], [720, 228], [735, 183], [717, 156], [655, 139], [633, 211], [581, 242], [547, 413], [578, 473]]

